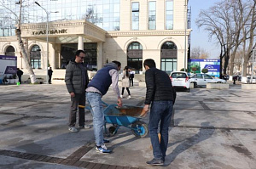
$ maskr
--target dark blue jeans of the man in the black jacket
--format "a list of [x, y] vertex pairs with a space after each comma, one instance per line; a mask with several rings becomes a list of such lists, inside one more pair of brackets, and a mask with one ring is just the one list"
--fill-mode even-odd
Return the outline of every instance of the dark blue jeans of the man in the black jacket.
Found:
[[[149, 134], [156, 160], [165, 160], [168, 145], [168, 127], [171, 123], [173, 101], [153, 101], [149, 115]], [[161, 140], [158, 138], [160, 122]]]

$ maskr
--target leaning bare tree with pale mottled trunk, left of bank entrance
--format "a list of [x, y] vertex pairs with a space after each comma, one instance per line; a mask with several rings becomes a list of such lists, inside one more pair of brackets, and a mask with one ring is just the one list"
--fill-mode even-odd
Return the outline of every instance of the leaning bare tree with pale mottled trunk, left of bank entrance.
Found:
[[22, 20], [23, 20], [23, 13], [22, 13], [23, 10], [22, 10], [22, 8], [24, 8], [24, 6], [23, 6], [24, 2], [25, 2], [25, 0], [20, 0], [19, 3], [16, 3], [17, 5], [20, 6], [20, 8], [19, 8], [20, 13], [18, 15], [18, 14], [15, 14], [15, 12], [11, 8], [8, 8], [5, 5], [4, 1], [0, 1], [1, 5], [4, 8], [6, 8], [7, 10], [9, 10], [9, 12], [12, 15], [15, 16], [14, 20], [17, 20], [17, 25], [16, 25], [16, 29], [15, 29], [15, 36], [17, 38], [18, 46], [19, 46], [19, 49], [20, 49], [20, 54], [22, 55], [22, 58], [24, 59], [25, 67], [26, 67], [26, 70], [28, 71], [31, 82], [35, 83], [35, 82], [37, 82], [36, 76], [35, 76], [34, 71], [32, 70], [32, 67], [30, 65], [30, 61], [29, 61], [28, 54], [27, 54], [27, 51], [26, 51], [26, 48], [25, 48], [25, 44], [24, 44], [24, 41], [22, 40], [22, 37], [21, 37], [21, 24], [22, 24]]

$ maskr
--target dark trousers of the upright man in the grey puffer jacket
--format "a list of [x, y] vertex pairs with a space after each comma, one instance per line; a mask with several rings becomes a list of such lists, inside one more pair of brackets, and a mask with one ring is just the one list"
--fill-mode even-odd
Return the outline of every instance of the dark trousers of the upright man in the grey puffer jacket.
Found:
[[[75, 127], [77, 120], [77, 110], [79, 105], [85, 106], [85, 92], [75, 93], [75, 97], [71, 98], [71, 107], [69, 113], [69, 127]], [[84, 126], [85, 115], [84, 108], [79, 108], [79, 127]]]

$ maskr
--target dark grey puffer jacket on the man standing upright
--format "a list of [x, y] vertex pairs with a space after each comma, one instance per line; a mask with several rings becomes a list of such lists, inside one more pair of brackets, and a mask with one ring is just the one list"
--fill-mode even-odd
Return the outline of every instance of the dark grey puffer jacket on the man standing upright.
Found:
[[[84, 65], [83, 65], [84, 66]], [[82, 71], [85, 72], [85, 85], [83, 86]], [[66, 68], [65, 82], [68, 93], [84, 93], [89, 83], [87, 69], [81, 70], [79, 64], [70, 61]]]

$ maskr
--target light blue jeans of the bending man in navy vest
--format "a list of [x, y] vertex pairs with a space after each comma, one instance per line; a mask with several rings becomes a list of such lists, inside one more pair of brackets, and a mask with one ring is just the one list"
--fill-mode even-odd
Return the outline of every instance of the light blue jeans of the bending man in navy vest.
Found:
[[96, 145], [103, 144], [104, 113], [102, 107], [102, 95], [100, 93], [86, 93], [87, 103], [90, 105], [90, 112], [93, 116], [93, 130], [96, 138]]

